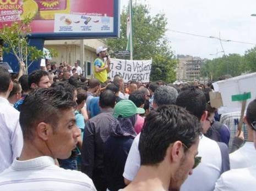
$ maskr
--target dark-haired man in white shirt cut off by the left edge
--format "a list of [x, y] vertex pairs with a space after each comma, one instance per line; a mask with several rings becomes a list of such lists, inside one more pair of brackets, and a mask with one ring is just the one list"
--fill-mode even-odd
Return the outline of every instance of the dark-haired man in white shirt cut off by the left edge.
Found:
[[23, 147], [19, 111], [7, 100], [12, 89], [13, 82], [9, 72], [0, 67], [0, 172], [12, 164]]

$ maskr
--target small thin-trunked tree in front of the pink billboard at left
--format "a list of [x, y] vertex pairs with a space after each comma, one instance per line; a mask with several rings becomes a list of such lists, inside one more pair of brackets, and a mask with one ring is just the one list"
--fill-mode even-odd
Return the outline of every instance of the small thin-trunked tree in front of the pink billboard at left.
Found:
[[[0, 30], [0, 38], [3, 40], [3, 51], [13, 54], [17, 58], [20, 66], [20, 72], [28, 74], [28, 68], [31, 64], [48, 53], [36, 47], [29, 46], [29, 36], [31, 32], [31, 18], [28, 15], [23, 20], [15, 21], [12, 25], [4, 25]], [[56, 56], [57, 52], [50, 49], [50, 56]]]

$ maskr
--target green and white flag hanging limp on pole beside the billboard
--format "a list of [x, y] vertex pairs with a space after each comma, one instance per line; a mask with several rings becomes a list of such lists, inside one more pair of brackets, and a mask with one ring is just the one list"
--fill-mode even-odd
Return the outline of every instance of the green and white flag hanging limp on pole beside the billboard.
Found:
[[129, 0], [129, 12], [127, 16], [127, 28], [126, 28], [126, 36], [127, 36], [127, 46], [126, 50], [130, 51], [131, 60], [132, 60], [132, 52], [133, 52], [133, 42], [132, 42], [132, 0]]

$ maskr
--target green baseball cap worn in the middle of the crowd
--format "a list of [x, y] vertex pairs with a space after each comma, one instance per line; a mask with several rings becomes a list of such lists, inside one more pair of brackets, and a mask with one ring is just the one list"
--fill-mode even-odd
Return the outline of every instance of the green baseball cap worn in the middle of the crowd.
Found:
[[118, 118], [127, 118], [135, 114], [144, 114], [143, 108], [137, 108], [137, 106], [128, 99], [123, 99], [115, 105], [113, 116]]

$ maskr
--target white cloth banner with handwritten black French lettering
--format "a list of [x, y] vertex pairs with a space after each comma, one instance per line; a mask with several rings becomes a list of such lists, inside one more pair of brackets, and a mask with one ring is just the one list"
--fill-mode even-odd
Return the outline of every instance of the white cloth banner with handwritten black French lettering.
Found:
[[109, 76], [113, 81], [115, 75], [123, 77], [123, 81], [149, 82], [152, 60], [121, 60], [112, 59], [110, 63]]

